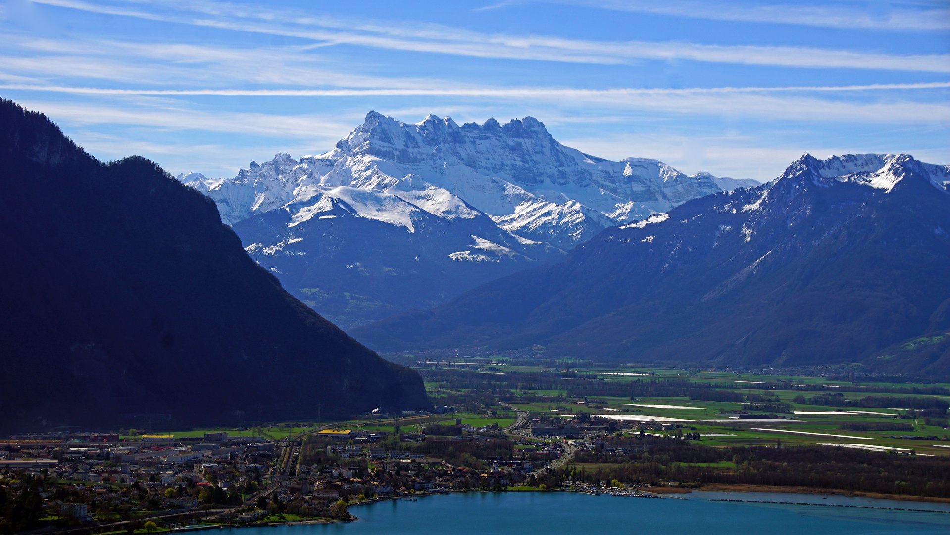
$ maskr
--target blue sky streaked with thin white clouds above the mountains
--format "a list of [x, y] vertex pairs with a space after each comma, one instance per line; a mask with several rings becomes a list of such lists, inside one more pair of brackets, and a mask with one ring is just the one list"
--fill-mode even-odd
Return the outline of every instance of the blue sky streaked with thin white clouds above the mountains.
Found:
[[950, 163], [950, 3], [10, 0], [0, 96], [103, 160], [231, 177], [366, 112], [533, 116], [618, 160], [768, 181], [805, 152]]

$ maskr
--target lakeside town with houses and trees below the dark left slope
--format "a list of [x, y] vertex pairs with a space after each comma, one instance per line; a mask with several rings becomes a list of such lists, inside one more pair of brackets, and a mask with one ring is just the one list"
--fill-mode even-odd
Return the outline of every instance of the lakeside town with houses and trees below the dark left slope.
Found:
[[[426, 417], [409, 414], [402, 421]], [[0, 507], [7, 511], [0, 528], [13, 533], [46, 525], [91, 533], [332, 522], [351, 518], [353, 504], [431, 493], [621, 491], [607, 482], [572, 484], [557, 473], [575, 451], [602, 449], [604, 433], [618, 430], [615, 422], [558, 426], [543, 420], [523, 419], [505, 430], [472, 428], [461, 419], [455, 426], [427, 426], [449, 436], [345, 429], [282, 439], [247, 429], [238, 429], [238, 436], [129, 436], [135, 431], [126, 430], [17, 435], [0, 441]], [[301, 426], [306, 424], [284, 427]], [[622, 495], [652, 494], [626, 489]]]

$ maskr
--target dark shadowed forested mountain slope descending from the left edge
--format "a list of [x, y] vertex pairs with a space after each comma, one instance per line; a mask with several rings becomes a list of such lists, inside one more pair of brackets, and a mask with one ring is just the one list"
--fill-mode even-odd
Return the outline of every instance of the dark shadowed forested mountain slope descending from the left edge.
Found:
[[0, 427], [427, 405], [417, 373], [284, 292], [213, 201], [142, 158], [97, 162], [10, 101], [0, 228]]

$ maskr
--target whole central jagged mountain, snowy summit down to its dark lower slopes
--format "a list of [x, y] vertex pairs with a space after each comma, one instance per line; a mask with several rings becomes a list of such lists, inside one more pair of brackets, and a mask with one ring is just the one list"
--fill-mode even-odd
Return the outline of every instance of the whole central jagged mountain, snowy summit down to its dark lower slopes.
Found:
[[445, 302], [557, 261], [604, 228], [758, 184], [610, 162], [558, 143], [530, 117], [460, 126], [375, 112], [328, 153], [179, 180], [217, 202], [285, 287], [345, 327]]

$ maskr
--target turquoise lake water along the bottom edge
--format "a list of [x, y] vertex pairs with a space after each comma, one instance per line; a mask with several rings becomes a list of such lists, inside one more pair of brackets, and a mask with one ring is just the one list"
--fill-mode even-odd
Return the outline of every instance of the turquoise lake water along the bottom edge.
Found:
[[[532, 533], [701, 533], [703, 535], [924, 535], [950, 533], [948, 504], [813, 494], [693, 492], [687, 500], [495, 492], [428, 496], [351, 507], [359, 520], [333, 525], [232, 528], [228, 535], [526, 535]], [[715, 500], [824, 505], [731, 503]], [[935, 512], [838, 507], [927, 508]]]

